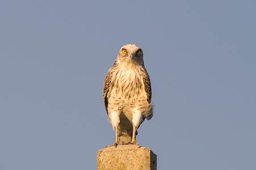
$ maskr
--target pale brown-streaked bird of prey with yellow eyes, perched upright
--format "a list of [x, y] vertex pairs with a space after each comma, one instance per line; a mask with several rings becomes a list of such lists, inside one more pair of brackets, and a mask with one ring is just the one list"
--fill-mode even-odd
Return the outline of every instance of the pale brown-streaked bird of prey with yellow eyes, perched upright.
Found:
[[139, 46], [127, 44], [119, 50], [105, 77], [103, 100], [115, 131], [114, 145], [136, 144], [137, 129], [153, 116], [150, 77]]

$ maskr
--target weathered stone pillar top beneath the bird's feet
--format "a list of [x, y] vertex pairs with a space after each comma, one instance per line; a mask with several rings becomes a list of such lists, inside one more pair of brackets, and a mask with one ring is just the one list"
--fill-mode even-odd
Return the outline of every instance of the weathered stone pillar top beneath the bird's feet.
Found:
[[156, 169], [156, 155], [137, 145], [110, 146], [97, 153], [98, 170]]

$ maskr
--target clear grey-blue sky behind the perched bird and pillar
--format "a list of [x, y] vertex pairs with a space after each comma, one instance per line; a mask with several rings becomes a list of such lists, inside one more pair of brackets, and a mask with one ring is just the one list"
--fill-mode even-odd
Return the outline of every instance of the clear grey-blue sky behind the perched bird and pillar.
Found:
[[1, 1], [0, 169], [96, 169], [102, 86], [141, 46], [158, 169], [256, 169], [255, 1]]

